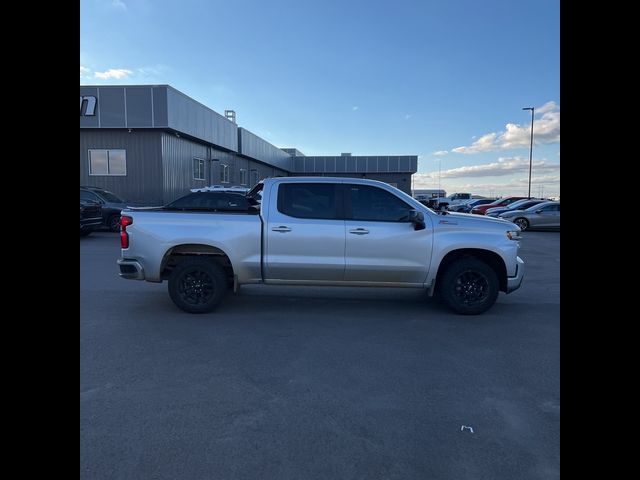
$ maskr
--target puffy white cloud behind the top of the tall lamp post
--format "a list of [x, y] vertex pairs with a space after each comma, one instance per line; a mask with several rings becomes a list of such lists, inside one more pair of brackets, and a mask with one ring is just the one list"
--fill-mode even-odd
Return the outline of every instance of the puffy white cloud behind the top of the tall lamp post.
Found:
[[[555, 102], [547, 102], [540, 107], [540, 113], [543, 115], [533, 123], [534, 145], [558, 143], [560, 141], [559, 109], [560, 107]], [[451, 151], [456, 153], [479, 153], [529, 147], [531, 124], [518, 125], [508, 123], [505, 128], [504, 132], [487, 133], [470, 146], [456, 147]]]

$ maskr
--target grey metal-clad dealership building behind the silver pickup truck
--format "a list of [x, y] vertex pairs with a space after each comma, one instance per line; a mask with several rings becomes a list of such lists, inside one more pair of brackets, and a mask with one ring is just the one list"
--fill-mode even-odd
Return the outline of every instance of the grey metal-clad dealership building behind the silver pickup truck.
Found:
[[80, 185], [160, 205], [266, 177], [372, 178], [411, 192], [417, 156], [307, 157], [280, 149], [168, 85], [80, 87]]

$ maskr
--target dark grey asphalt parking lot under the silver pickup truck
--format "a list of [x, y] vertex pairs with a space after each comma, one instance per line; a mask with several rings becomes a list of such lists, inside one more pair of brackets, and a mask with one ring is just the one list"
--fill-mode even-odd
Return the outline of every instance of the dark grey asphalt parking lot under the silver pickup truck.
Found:
[[80, 477], [559, 478], [560, 233], [523, 236], [522, 287], [470, 317], [260, 285], [189, 315], [81, 238]]

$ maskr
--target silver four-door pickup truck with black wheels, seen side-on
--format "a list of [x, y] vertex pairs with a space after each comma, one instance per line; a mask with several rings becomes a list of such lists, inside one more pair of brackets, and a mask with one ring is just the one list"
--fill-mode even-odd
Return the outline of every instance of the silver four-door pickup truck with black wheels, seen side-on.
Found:
[[270, 178], [247, 196], [260, 202], [124, 210], [120, 276], [168, 280], [171, 299], [191, 313], [265, 283], [422, 288], [473, 315], [522, 282], [520, 229], [505, 220], [436, 213], [365, 179]]

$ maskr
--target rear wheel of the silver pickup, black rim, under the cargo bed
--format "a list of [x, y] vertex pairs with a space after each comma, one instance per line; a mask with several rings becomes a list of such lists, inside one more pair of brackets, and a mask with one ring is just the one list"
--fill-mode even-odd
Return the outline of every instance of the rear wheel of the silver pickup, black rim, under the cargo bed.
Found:
[[217, 263], [187, 259], [179, 263], [169, 277], [169, 296], [178, 308], [189, 313], [214, 310], [227, 290], [227, 277]]

